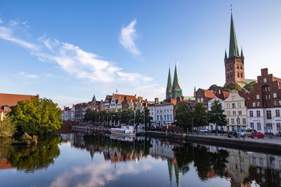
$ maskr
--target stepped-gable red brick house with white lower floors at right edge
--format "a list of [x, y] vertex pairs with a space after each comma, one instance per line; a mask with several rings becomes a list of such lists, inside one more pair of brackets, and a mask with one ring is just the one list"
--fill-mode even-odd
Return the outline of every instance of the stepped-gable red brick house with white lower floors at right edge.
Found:
[[263, 133], [281, 133], [280, 111], [281, 78], [268, 74], [267, 68], [261, 69], [261, 76], [247, 102], [248, 125]]

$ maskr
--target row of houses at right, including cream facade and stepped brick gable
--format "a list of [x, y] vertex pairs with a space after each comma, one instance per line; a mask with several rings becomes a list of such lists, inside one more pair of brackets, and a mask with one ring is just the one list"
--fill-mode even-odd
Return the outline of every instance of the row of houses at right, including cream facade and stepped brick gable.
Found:
[[[202, 102], [208, 110], [215, 100], [221, 103], [227, 116], [224, 130], [237, 130], [239, 125], [262, 133], [281, 133], [281, 78], [268, 74], [268, 69], [261, 69], [253, 92], [213, 92], [201, 88], [196, 92], [196, 102]], [[214, 125], [209, 128], [214, 129]]]

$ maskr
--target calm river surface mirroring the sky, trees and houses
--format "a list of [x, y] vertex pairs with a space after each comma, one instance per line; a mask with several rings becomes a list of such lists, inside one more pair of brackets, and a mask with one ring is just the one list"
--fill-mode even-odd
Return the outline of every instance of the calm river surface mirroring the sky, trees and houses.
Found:
[[0, 141], [0, 186], [280, 186], [281, 156], [102, 134]]

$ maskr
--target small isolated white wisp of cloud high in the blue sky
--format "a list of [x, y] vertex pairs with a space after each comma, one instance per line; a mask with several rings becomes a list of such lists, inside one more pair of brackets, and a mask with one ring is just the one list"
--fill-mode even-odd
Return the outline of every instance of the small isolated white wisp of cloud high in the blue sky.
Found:
[[138, 48], [135, 44], [136, 39], [136, 29], [134, 28], [136, 25], [136, 20], [133, 20], [127, 27], [123, 27], [120, 35], [120, 43], [126, 50], [129, 50], [133, 55], [140, 55]]

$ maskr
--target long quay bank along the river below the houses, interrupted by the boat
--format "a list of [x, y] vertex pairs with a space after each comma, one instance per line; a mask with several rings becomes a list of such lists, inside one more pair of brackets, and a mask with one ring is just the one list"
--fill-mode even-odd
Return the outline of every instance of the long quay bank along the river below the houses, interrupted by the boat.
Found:
[[[72, 130], [84, 132], [105, 132], [110, 133], [110, 127], [73, 125]], [[251, 139], [249, 137], [240, 139], [228, 138], [226, 134], [186, 134], [174, 132], [145, 131], [145, 136], [160, 139], [172, 139], [176, 141], [209, 144], [214, 146], [225, 146], [228, 148], [247, 149], [247, 151], [259, 151], [263, 153], [281, 154], [280, 138]]]

